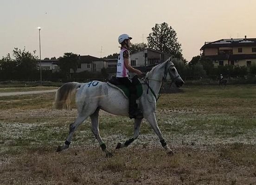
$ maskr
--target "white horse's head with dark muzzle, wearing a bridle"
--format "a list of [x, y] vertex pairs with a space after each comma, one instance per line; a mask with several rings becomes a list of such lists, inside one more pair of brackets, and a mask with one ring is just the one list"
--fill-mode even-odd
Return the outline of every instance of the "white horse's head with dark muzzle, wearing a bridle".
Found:
[[179, 73], [178, 73], [177, 69], [175, 68], [175, 65], [173, 64], [172, 60], [173, 60], [173, 58], [170, 57], [166, 61], [165, 74], [164, 74], [163, 78], [166, 82], [172, 82], [172, 83], [174, 82], [177, 87], [181, 87], [184, 84], [184, 81], [179, 76]]

